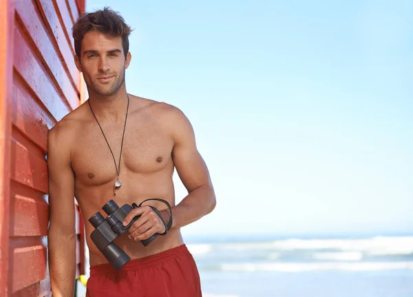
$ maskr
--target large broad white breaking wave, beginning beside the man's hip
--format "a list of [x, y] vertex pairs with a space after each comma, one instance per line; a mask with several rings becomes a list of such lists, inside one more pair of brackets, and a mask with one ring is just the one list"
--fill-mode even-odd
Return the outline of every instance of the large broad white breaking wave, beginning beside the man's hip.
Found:
[[238, 243], [187, 245], [198, 260], [234, 261], [413, 261], [413, 236], [376, 236], [367, 239], [283, 239]]

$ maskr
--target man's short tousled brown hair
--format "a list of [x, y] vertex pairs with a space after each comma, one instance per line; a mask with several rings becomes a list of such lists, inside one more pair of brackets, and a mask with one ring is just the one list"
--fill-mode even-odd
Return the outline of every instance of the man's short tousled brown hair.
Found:
[[82, 40], [87, 32], [98, 31], [110, 36], [122, 37], [123, 52], [125, 58], [129, 52], [129, 34], [131, 28], [125, 23], [125, 20], [118, 12], [114, 12], [108, 7], [103, 10], [89, 12], [79, 17], [72, 28], [74, 39], [74, 52], [81, 58]]

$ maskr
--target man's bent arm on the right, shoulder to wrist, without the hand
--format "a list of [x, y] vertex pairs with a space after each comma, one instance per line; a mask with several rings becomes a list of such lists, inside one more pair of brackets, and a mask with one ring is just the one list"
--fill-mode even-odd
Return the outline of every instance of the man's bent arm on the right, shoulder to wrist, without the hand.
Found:
[[173, 107], [172, 113], [173, 164], [189, 192], [172, 208], [172, 228], [181, 228], [209, 214], [216, 201], [209, 170], [198, 152], [192, 125], [180, 109]]

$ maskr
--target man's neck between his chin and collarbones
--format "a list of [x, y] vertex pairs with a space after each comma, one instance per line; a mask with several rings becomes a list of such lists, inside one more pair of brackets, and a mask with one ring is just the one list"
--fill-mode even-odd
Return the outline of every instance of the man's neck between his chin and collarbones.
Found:
[[125, 120], [128, 95], [125, 89], [120, 89], [112, 96], [102, 96], [94, 92], [89, 93], [89, 104], [99, 120], [118, 122]]

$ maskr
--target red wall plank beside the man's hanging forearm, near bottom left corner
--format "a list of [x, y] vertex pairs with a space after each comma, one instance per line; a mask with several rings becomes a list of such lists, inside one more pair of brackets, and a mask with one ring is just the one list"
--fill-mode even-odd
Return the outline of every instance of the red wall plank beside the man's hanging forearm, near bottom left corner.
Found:
[[9, 252], [9, 273], [12, 278], [10, 292], [17, 292], [47, 277], [45, 237], [11, 237]]

